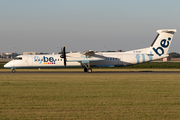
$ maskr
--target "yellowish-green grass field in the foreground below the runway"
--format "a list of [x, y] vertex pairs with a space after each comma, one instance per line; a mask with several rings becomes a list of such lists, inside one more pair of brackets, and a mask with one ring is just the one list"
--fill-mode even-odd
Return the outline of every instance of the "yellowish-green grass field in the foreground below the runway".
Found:
[[0, 119], [180, 119], [178, 74], [0, 75]]

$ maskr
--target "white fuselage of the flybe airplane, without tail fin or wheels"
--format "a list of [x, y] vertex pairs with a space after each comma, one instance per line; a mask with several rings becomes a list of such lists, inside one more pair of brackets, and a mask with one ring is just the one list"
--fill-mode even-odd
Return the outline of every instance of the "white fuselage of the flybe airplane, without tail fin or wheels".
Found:
[[[66, 67], [83, 67], [85, 63], [82, 63], [82, 61], [87, 60], [90, 60], [91, 67], [126, 66], [154, 60], [153, 56], [142, 53], [142, 51], [138, 51], [141, 53], [133, 52], [135, 51], [96, 53], [97, 55], [104, 57], [103, 60], [99, 61], [97, 61], [97, 59], [101, 59], [99, 57], [87, 57], [80, 53], [68, 53]], [[12, 69], [65, 67], [64, 59], [61, 58], [60, 55], [20, 55], [17, 58], [20, 59], [11, 60], [4, 67]], [[93, 61], [93, 59], [95, 59], [95, 61]], [[78, 60], [80, 62], [78, 62]]]

